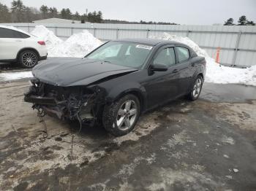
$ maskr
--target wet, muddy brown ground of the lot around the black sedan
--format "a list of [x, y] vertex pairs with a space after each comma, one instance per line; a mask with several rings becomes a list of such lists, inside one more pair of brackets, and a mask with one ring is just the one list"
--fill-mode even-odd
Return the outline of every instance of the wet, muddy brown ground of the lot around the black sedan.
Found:
[[45, 117], [0, 84], [0, 190], [256, 190], [256, 88], [205, 84], [115, 138]]

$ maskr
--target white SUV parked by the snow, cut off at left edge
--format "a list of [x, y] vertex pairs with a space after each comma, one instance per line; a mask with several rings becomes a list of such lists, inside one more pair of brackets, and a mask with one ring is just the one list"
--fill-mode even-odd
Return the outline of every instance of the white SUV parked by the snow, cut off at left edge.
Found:
[[45, 42], [12, 26], [0, 26], [0, 63], [20, 63], [33, 68], [47, 58]]

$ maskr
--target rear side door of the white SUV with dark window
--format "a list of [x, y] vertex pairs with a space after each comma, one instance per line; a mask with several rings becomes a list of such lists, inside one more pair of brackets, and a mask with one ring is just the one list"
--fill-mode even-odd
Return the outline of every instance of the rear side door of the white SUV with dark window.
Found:
[[9, 28], [0, 28], [0, 60], [15, 59], [18, 51], [24, 45], [24, 36], [20, 32]]

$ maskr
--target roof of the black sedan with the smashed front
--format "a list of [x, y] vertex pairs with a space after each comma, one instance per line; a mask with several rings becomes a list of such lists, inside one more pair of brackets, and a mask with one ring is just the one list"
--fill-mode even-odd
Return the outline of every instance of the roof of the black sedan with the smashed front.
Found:
[[118, 39], [114, 41], [119, 41], [119, 42], [135, 42], [135, 43], [141, 43], [141, 44], [148, 44], [155, 46], [157, 44], [181, 44], [187, 47], [186, 44], [180, 43], [180, 42], [175, 42], [175, 41], [170, 41], [170, 40], [164, 40], [164, 39]]

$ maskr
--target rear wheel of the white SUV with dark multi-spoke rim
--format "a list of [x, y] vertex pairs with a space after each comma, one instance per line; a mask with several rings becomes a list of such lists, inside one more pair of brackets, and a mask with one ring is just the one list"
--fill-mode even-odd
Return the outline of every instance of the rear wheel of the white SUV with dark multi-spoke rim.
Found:
[[31, 50], [24, 50], [18, 56], [18, 63], [25, 69], [31, 69], [38, 63], [37, 53]]

